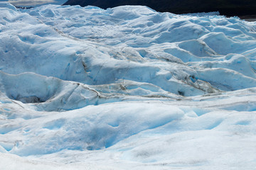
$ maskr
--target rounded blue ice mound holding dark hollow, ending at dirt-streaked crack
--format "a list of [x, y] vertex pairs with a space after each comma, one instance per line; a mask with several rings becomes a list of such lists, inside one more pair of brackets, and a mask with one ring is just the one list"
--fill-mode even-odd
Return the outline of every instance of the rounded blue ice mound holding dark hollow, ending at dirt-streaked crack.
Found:
[[17, 75], [0, 72], [1, 92], [22, 103], [36, 103], [38, 110], [62, 111], [96, 104], [97, 91], [83, 84], [61, 81], [34, 73]]

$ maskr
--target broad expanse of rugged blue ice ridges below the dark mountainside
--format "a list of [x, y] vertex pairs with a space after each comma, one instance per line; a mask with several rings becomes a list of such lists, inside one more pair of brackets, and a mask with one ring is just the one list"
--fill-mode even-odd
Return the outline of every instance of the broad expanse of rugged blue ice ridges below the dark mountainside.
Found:
[[[202, 78], [202, 69], [207, 72], [210, 66], [198, 67], [198, 63], [221, 61], [218, 72], [234, 71], [248, 76], [235, 64], [233, 68], [226, 66], [225, 55], [242, 55], [255, 49], [253, 24], [238, 18], [176, 16], [157, 13], [145, 6], [107, 10], [92, 6], [42, 6], [16, 11], [14, 15], [31, 19], [15, 22], [9, 19], [12, 24], [26, 24], [23, 28], [11, 26], [8, 30], [15, 32], [14, 36], [2, 42], [5, 62], [12, 65], [18, 62], [16, 69], [12, 65], [2, 69], [10, 74], [35, 72], [91, 85], [128, 79], [154, 84], [174, 94], [195, 96], [207, 94], [211, 89], [223, 90], [222, 86], [224, 90], [236, 89], [228, 82]], [[36, 22], [32, 23], [33, 20]], [[237, 40], [238, 37], [246, 39]], [[247, 63], [251, 70], [255, 68], [252, 59], [241, 62]], [[225, 74], [227, 79], [233, 79], [231, 74]], [[247, 79], [244, 76], [241, 79]], [[188, 77], [206, 80], [214, 86], [201, 88]]]

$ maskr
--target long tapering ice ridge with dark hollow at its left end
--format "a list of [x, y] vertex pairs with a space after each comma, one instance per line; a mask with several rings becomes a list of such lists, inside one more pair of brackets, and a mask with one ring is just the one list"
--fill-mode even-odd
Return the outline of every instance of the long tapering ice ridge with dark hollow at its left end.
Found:
[[5, 74], [1, 71], [0, 80], [2, 96], [28, 103], [37, 111], [70, 111], [102, 103], [137, 101], [137, 98], [142, 101], [150, 98], [162, 98], [164, 101], [181, 98], [159, 86], [136, 81], [119, 80], [115, 84], [89, 86], [34, 73]]

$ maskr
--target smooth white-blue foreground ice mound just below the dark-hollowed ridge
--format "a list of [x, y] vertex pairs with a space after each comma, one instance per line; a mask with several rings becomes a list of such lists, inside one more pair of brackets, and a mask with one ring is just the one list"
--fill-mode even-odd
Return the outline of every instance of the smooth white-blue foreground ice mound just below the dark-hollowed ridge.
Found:
[[[122, 114], [117, 116], [110, 106], [99, 106], [96, 110], [94, 106], [90, 106], [78, 112], [55, 113], [48, 118], [29, 120], [26, 123], [28, 137], [10, 152], [26, 156], [49, 154], [63, 149], [103, 149], [146, 129], [169, 123], [181, 117], [183, 113], [173, 107], [166, 113], [166, 108], [154, 104], [119, 103], [116, 111]], [[154, 112], [154, 109], [159, 112]], [[145, 114], [149, 117], [145, 118]], [[156, 119], [152, 120], [151, 116]], [[141, 121], [134, 125], [138, 118]], [[95, 120], [95, 123], [92, 123], [92, 120]], [[36, 129], [33, 128], [35, 125]], [[38, 137], [41, 138], [40, 142], [36, 140]]]

